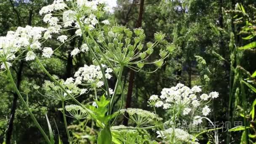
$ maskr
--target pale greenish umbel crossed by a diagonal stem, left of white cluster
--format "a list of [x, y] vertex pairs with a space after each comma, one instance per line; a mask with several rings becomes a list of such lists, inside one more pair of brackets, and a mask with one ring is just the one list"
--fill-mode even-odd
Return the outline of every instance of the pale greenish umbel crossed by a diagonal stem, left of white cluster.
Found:
[[[77, 97], [85, 93], [86, 89], [80, 89], [78, 88], [74, 83], [72, 78], [68, 78], [66, 81], [60, 79], [59, 83], [65, 88], [65, 90], [73, 97]], [[35, 89], [38, 89], [39, 87], [34, 87]], [[43, 96], [49, 97], [51, 99], [56, 99], [59, 101], [67, 101], [71, 99], [71, 97], [65, 93], [56, 83], [53, 83], [51, 81], [45, 80], [45, 83], [43, 84], [43, 90], [45, 94], [41, 94]], [[37, 90], [38, 91], [38, 90]], [[39, 91], [38, 91], [39, 92]]]

